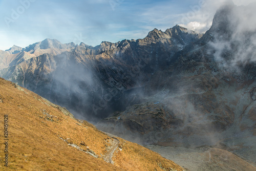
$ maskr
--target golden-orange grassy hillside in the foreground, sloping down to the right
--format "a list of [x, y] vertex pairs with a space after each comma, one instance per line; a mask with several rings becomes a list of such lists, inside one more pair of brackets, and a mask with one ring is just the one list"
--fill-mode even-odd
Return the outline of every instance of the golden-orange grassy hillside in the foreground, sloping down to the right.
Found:
[[1, 162], [1, 170], [183, 170], [2, 78], [0, 113], [2, 125], [8, 124], [7, 137], [1, 134], [8, 144], [0, 145], [1, 158], [8, 154], [8, 167]]

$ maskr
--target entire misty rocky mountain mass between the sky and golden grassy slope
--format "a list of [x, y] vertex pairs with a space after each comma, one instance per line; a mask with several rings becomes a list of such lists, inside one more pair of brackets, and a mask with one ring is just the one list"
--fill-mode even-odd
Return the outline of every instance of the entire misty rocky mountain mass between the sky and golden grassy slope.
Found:
[[11, 48], [0, 53], [0, 73], [100, 130], [215, 161], [190, 170], [255, 170], [256, 28], [241, 17], [254, 26], [254, 6], [227, 3], [203, 35], [176, 25], [96, 47], [47, 39], [18, 55]]

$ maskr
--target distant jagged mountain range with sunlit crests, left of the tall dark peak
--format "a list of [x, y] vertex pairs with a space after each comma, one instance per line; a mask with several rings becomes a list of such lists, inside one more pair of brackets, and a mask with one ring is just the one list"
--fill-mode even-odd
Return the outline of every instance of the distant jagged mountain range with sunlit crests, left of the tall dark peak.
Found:
[[[46, 39], [17, 53], [1, 75], [87, 120], [104, 118], [125, 109], [120, 98], [127, 90], [143, 87], [155, 72], [168, 68], [175, 52], [201, 36], [175, 26], [165, 32], [154, 29], [144, 39], [102, 42], [96, 47], [83, 43], [67, 46]], [[60, 53], [62, 50], [65, 52]], [[7, 59], [8, 55], [2, 57], [2, 61]], [[120, 97], [115, 95], [108, 104], [99, 104], [111, 88], [117, 88]]]

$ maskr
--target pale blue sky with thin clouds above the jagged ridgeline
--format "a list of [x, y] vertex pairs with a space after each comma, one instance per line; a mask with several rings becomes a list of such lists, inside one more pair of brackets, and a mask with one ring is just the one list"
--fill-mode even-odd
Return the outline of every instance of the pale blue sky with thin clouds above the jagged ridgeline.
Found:
[[[45, 38], [62, 43], [143, 38], [176, 24], [205, 32], [224, 0], [0, 0], [0, 49], [26, 47]], [[249, 2], [234, 0], [237, 5]]]

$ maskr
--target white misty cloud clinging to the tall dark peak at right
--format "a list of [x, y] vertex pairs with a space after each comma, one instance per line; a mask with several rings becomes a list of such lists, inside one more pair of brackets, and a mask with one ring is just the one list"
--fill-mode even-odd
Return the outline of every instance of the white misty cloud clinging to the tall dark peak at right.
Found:
[[228, 39], [216, 36], [210, 44], [222, 68], [239, 71], [238, 66], [256, 62], [255, 8], [256, 3], [233, 8], [231, 18], [227, 21], [232, 25], [229, 31], [231, 36]]

